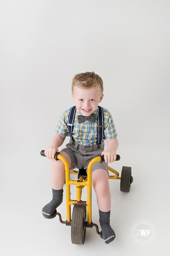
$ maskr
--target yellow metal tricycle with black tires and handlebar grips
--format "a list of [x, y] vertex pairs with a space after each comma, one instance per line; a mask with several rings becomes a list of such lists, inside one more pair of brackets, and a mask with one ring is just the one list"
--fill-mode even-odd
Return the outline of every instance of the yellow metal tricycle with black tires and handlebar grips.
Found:
[[[44, 150], [41, 151], [41, 156], [45, 156]], [[61, 214], [55, 210], [55, 214], [59, 216], [61, 223], [66, 226], [71, 226], [71, 242], [72, 244], [84, 244], [86, 228], [96, 227], [96, 232], [103, 238], [101, 232], [99, 232], [98, 225], [92, 222], [92, 166], [96, 162], [104, 162], [104, 156], [94, 157], [85, 169], [79, 169], [78, 171], [70, 170], [69, 163], [66, 158], [60, 155], [59, 152], [55, 154], [55, 160], [61, 160], [65, 166], [65, 188], [66, 188], [66, 210], [67, 219], [63, 221]], [[116, 161], [120, 160], [120, 156], [117, 155]], [[119, 173], [113, 168], [108, 166], [108, 171], [113, 172], [115, 175], [108, 175], [109, 179], [120, 180], [120, 189], [122, 192], [130, 191], [130, 184], [133, 182], [131, 176], [131, 167], [123, 166], [121, 177]], [[70, 180], [70, 173], [78, 174], [78, 180]], [[76, 200], [70, 199], [70, 185], [76, 186]], [[81, 200], [82, 189], [87, 186], [87, 201]], [[71, 218], [71, 204], [74, 205]]]

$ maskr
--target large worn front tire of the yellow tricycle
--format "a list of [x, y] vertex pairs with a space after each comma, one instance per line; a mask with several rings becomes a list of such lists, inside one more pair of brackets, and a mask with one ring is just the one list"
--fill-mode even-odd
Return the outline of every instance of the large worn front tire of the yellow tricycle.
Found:
[[86, 206], [74, 205], [71, 220], [71, 242], [72, 244], [84, 244], [86, 233]]

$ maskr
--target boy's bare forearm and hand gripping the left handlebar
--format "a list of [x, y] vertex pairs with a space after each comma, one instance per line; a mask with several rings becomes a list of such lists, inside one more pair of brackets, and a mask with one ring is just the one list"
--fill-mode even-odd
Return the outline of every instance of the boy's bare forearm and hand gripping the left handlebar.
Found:
[[63, 144], [66, 135], [59, 135], [56, 133], [51, 140], [49, 147], [47, 147], [44, 151], [44, 154], [48, 157], [48, 159], [53, 159], [55, 153], [58, 152], [58, 148]]

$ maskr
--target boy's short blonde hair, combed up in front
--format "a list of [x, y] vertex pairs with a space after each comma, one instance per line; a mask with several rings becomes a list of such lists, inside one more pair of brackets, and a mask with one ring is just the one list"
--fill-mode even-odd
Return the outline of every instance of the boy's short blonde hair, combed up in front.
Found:
[[79, 73], [73, 77], [71, 91], [74, 92], [74, 87], [80, 89], [91, 89], [103, 92], [103, 81], [101, 77], [94, 72]]

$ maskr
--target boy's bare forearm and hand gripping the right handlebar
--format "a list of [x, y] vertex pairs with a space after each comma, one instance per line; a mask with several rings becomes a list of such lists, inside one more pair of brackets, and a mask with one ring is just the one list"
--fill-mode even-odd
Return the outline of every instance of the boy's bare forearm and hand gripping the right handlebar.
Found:
[[116, 150], [118, 148], [117, 137], [114, 139], [106, 139], [107, 149], [101, 153], [101, 156], [104, 156], [106, 163], [112, 163], [116, 160]]

